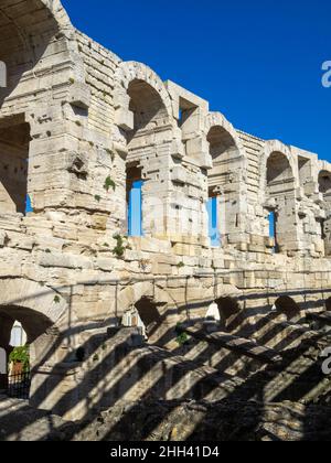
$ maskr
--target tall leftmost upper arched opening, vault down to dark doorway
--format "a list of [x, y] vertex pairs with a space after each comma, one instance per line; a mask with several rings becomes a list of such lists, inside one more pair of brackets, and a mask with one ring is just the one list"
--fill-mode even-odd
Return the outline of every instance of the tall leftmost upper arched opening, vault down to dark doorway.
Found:
[[[58, 0], [0, 3], [0, 63], [6, 77], [6, 85], [0, 85], [0, 214], [25, 214], [32, 206], [28, 196], [30, 126], [23, 111], [40, 98], [41, 76], [56, 67], [56, 60], [63, 62], [62, 53], [53, 53], [50, 66], [50, 50], [47, 57], [42, 57], [50, 43], [54, 46], [60, 28], [70, 26], [70, 20]], [[56, 36], [58, 50], [65, 53], [66, 45], [67, 34]]]

